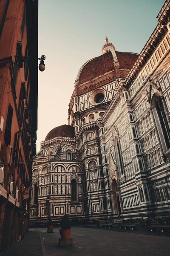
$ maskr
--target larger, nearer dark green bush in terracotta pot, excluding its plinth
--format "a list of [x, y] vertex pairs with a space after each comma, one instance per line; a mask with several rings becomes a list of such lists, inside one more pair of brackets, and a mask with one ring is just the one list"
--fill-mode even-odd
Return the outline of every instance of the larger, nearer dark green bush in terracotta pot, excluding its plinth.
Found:
[[60, 222], [60, 227], [62, 228], [59, 230], [60, 236], [62, 239], [69, 239], [71, 234], [71, 221], [68, 218], [68, 215], [65, 213], [65, 215], [62, 217], [62, 220]]

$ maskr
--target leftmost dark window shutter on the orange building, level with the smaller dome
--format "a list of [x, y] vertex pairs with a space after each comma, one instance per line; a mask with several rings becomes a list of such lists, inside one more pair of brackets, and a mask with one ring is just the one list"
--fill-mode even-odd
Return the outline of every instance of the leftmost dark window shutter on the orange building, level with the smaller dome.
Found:
[[7, 119], [6, 119], [6, 130], [5, 130], [5, 135], [4, 135], [4, 140], [5, 140], [6, 145], [9, 145], [11, 142], [12, 116], [13, 116], [13, 108], [9, 104], [8, 115], [7, 115]]

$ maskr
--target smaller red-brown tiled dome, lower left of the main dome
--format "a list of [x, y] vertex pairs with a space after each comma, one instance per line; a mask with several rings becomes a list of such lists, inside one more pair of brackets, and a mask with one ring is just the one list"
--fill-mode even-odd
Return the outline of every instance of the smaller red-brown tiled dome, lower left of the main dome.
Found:
[[56, 128], [52, 129], [48, 132], [47, 136], [45, 137], [46, 140], [52, 140], [56, 137], [67, 137], [67, 138], [74, 138], [74, 127], [71, 125], [60, 125]]

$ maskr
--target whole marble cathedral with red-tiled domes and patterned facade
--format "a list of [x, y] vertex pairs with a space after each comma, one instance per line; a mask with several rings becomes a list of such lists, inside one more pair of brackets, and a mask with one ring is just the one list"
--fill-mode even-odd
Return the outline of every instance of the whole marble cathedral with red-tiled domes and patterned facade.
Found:
[[157, 20], [140, 54], [106, 37], [79, 69], [34, 157], [30, 223], [170, 215], [170, 1]]

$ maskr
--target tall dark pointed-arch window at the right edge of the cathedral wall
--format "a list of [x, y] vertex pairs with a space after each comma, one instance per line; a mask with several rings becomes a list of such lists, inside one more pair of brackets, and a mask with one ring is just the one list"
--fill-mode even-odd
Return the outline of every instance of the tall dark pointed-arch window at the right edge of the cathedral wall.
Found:
[[170, 126], [167, 120], [167, 116], [164, 110], [164, 105], [161, 97], [157, 97], [156, 99], [156, 110], [159, 116], [159, 120], [161, 123], [161, 128], [164, 134], [164, 139], [165, 139], [167, 148], [170, 148]]

